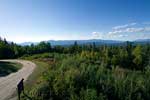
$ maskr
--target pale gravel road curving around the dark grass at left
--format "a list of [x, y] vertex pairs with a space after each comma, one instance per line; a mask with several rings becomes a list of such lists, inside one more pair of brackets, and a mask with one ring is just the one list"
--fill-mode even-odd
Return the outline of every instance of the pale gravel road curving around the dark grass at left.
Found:
[[0, 100], [8, 100], [11, 95], [16, 91], [16, 86], [18, 82], [24, 78], [27, 80], [28, 76], [33, 72], [36, 65], [31, 61], [26, 60], [0, 60], [8, 62], [21, 63], [22, 68], [16, 72], [12, 73], [6, 77], [0, 77]]

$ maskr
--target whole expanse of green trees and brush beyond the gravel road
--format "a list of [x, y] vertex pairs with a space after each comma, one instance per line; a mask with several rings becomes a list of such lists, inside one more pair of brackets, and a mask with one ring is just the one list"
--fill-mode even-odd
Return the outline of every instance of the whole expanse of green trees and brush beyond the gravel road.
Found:
[[19, 46], [1, 39], [0, 59], [18, 57], [51, 62], [27, 92], [33, 100], [150, 100], [150, 44]]

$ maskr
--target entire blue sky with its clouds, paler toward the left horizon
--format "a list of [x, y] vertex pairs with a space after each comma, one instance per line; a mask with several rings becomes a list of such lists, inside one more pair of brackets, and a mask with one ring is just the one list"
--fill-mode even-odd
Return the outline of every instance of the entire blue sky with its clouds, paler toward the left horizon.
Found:
[[150, 0], [0, 0], [0, 37], [16, 43], [150, 39]]

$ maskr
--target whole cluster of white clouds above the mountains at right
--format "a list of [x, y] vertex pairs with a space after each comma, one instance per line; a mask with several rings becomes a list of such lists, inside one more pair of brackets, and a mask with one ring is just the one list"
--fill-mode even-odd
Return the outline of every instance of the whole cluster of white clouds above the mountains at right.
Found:
[[[112, 28], [112, 31], [106, 33], [92, 32], [94, 38], [102, 39], [137, 39], [137, 38], [150, 38], [150, 26], [140, 25], [135, 26], [137, 23], [130, 23], [122, 26]], [[131, 34], [132, 33], [132, 34]]]

